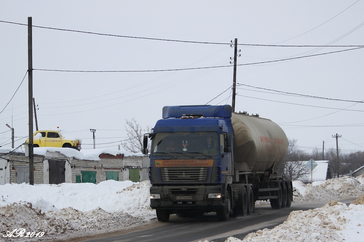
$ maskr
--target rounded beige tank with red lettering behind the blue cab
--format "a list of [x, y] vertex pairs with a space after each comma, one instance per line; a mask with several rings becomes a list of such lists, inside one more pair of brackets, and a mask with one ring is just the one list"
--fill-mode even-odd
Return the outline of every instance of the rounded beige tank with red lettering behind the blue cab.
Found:
[[231, 120], [234, 130], [234, 169], [276, 169], [288, 148], [288, 139], [282, 128], [258, 115], [233, 113]]

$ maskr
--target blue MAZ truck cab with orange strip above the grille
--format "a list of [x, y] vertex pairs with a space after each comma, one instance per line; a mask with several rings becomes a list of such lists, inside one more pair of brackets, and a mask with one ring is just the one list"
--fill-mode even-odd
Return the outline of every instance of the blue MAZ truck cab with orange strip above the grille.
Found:
[[158, 220], [207, 212], [223, 220], [234, 172], [231, 106], [166, 106], [162, 116], [149, 134], [150, 206]]

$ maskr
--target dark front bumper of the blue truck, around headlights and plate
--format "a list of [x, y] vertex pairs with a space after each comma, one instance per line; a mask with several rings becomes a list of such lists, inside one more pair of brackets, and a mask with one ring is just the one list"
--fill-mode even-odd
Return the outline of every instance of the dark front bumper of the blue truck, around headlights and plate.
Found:
[[[221, 185], [212, 186], [151, 186], [150, 194], [160, 194], [161, 198], [150, 200], [152, 209], [170, 209], [176, 212], [183, 210], [206, 210], [223, 206], [222, 198], [207, 198], [209, 193], [223, 194]], [[192, 199], [177, 199], [177, 197], [191, 197]]]

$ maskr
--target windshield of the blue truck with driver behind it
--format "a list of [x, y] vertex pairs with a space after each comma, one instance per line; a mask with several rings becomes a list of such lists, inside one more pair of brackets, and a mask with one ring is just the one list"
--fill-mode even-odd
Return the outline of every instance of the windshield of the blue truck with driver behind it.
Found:
[[219, 139], [216, 132], [157, 133], [153, 139], [153, 153], [217, 155]]

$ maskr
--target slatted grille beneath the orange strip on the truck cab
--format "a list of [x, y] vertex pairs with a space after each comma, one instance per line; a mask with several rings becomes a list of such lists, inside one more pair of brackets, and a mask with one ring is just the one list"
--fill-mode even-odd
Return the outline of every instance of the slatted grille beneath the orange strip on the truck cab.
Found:
[[163, 181], [206, 181], [207, 167], [161, 168]]

